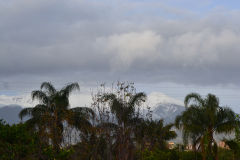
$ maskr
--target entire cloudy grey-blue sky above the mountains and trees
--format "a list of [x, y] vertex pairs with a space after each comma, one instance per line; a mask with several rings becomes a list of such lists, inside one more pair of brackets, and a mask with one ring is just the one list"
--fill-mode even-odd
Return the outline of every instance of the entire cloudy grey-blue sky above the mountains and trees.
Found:
[[0, 100], [50, 81], [79, 82], [89, 103], [101, 83], [130, 81], [240, 113], [239, 18], [238, 0], [0, 0]]

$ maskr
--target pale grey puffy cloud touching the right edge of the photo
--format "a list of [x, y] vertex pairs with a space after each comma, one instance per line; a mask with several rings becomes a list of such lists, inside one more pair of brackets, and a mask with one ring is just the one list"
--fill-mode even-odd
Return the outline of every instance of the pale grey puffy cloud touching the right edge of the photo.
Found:
[[[187, 32], [170, 37], [166, 50], [175, 63], [184, 63], [187, 66], [204, 67], [206, 65], [231, 65], [240, 51], [240, 34], [222, 30], [205, 29], [200, 32]], [[235, 64], [238, 65], [238, 64]]]

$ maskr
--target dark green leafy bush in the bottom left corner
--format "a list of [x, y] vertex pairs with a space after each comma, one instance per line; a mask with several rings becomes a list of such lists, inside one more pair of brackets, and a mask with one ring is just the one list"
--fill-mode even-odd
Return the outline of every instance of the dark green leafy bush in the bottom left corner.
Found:
[[0, 121], [0, 159], [33, 159], [37, 136], [25, 124], [8, 125]]

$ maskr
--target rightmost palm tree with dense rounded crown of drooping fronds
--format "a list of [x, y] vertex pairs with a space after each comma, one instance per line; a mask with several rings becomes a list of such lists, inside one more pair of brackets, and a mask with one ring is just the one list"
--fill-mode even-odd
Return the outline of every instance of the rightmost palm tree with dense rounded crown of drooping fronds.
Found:
[[[192, 103], [191, 103], [192, 102]], [[192, 138], [193, 145], [199, 144], [203, 159], [218, 159], [216, 133], [230, 133], [236, 127], [235, 113], [227, 107], [219, 106], [219, 99], [208, 94], [206, 98], [197, 93], [185, 97], [186, 110], [176, 117], [177, 128], [183, 130], [183, 138]]]

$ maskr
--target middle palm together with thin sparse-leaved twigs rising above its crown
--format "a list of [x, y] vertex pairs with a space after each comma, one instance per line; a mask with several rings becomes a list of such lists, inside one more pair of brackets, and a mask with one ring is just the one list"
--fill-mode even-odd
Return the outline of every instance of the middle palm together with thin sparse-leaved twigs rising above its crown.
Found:
[[117, 159], [133, 159], [136, 148], [135, 131], [143, 120], [139, 109], [145, 102], [146, 95], [142, 92], [136, 93], [131, 84], [118, 83], [116, 93], [103, 93], [99, 97], [101, 102], [108, 103], [107, 116], [115, 119], [115, 121], [101, 121], [97, 126], [103, 131], [101, 133], [103, 137], [107, 139], [108, 156]]

